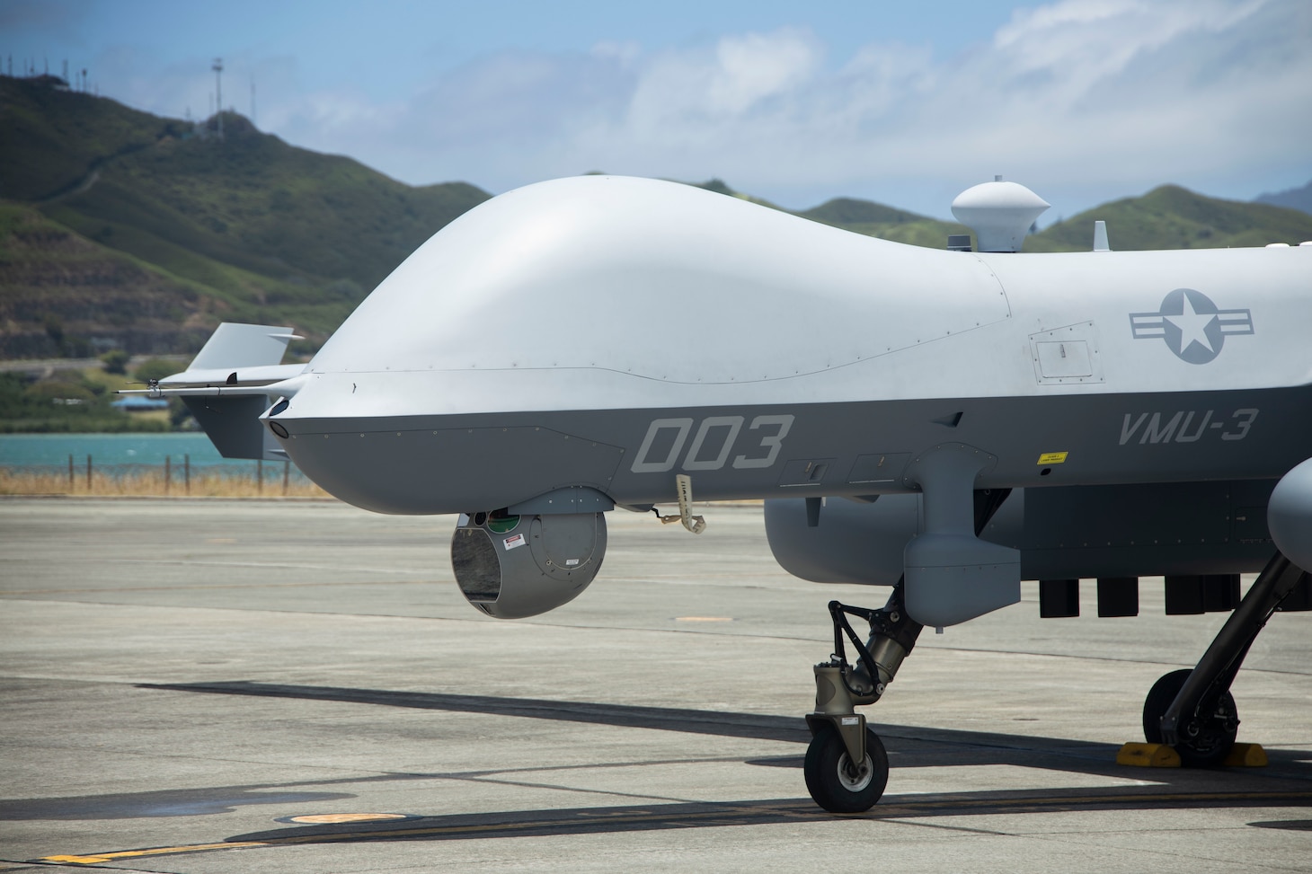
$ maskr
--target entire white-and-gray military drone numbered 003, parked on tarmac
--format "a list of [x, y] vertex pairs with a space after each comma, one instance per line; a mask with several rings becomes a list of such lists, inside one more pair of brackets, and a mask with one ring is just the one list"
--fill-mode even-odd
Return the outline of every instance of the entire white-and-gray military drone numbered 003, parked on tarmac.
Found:
[[1043, 615], [1081, 577], [1103, 615], [1148, 575], [1168, 613], [1236, 608], [1144, 705], [1147, 740], [1218, 764], [1253, 639], [1312, 609], [1312, 244], [1113, 252], [1099, 223], [1092, 251], [1018, 253], [1046, 206], [977, 185], [953, 205], [976, 244], [930, 251], [674, 182], [541, 182], [436, 234], [310, 364], [278, 364], [289, 328], [223, 324], [148, 391], [226, 455], [461, 513], [455, 577], [497, 618], [583, 592], [617, 507], [699, 530], [693, 495], [765, 499], [786, 570], [892, 587], [829, 604], [806, 781], [830, 811], [888, 777], [854, 707], [1021, 580]]

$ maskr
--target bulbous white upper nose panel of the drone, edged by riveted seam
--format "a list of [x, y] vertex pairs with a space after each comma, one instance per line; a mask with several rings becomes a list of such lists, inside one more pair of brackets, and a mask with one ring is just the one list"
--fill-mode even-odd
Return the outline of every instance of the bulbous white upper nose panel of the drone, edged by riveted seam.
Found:
[[1006, 316], [997, 282], [971, 259], [686, 185], [575, 177], [497, 197], [434, 235], [312, 369], [756, 382]]

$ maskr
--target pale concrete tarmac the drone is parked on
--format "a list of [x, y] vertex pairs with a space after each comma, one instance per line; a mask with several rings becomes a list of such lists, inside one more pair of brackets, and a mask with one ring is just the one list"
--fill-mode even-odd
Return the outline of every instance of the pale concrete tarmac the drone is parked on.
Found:
[[[699, 510], [701, 512], [701, 510]], [[926, 631], [867, 709], [869, 814], [807, 797], [829, 598], [758, 508], [607, 517], [575, 602], [497, 622], [450, 517], [331, 501], [0, 499], [0, 870], [1308, 871], [1312, 615], [1235, 684], [1270, 765], [1115, 764], [1221, 614]]]

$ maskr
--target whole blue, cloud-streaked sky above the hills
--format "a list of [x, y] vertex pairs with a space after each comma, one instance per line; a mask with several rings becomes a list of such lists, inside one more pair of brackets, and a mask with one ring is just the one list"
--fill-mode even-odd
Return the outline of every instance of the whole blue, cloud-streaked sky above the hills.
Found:
[[401, 181], [602, 169], [947, 217], [994, 173], [1040, 224], [1177, 182], [1312, 178], [1307, 0], [0, 0], [0, 59], [171, 117], [223, 102]]

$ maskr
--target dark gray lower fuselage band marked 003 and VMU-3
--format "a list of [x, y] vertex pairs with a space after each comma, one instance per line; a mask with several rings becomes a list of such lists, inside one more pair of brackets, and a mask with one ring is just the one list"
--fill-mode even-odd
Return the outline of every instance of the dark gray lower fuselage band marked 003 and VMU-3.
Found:
[[[765, 444], [778, 429], [750, 424], [789, 416], [777, 457], [752, 466], [769, 454]], [[687, 423], [670, 425], [674, 440], [685, 432], [678, 451], [646, 441], [660, 420]], [[706, 428], [693, 458], [707, 420], [724, 427]], [[446, 513], [506, 507], [569, 486], [596, 488], [622, 505], [669, 503], [680, 472], [693, 476], [698, 500], [908, 492], [914, 486], [900, 475], [871, 482], [869, 457], [914, 461], [945, 441], [997, 457], [980, 488], [1278, 478], [1312, 454], [1312, 386], [278, 421], [293, 434], [282, 441], [293, 461], [338, 497], [378, 512]], [[731, 434], [736, 442], [727, 450], [715, 444]], [[1040, 465], [1048, 453], [1065, 455]], [[652, 470], [670, 457], [668, 470]], [[803, 475], [808, 463], [813, 479]]]

